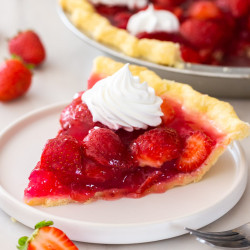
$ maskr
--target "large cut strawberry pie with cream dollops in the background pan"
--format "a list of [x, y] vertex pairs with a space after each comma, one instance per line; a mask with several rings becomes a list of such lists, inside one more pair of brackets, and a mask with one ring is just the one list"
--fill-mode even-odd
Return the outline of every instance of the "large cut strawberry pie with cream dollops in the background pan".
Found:
[[250, 66], [248, 0], [60, 0], [73, 24], [154, 63]]

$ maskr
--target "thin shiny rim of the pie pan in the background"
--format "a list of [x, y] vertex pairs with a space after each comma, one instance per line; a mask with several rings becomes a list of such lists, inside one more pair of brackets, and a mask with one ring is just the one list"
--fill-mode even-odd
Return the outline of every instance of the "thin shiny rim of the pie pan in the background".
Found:
[[140, 58], [130, 57], [125, 55], [105, 44], [99, 43], [86, 35], [83, 31], [78, 29], [70, 20], [69, 16], [62, 7], [57, 4], [57, 13], [64, 23], [64, 25], [78, 38], [86, 42], [87, 44], [101, 50], [102, 52], [111, 54], [112, 56], [119, 58], [120, 60], [132, 61], [134, 64], [140, 64], [154, 70], [164, 70], [169, 72], [175, 72], [180, 74], [187, 74], [193, 76], [205, 76], [211, 78], [234, 78], [234, 79], [250, 79], [249, 67], [227, 67], [227, 66], [208, 66], [193, 63], [184, 63], [184, 68], [174, 68], [165, 65], [156, 64], [150, 61], [146, 61]]

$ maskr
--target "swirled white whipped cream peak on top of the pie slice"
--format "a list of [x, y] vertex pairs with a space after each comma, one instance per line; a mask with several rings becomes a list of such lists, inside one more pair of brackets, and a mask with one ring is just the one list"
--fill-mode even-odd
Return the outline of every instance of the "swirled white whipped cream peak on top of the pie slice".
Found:
[[110, 129], [126, 131], [146, 129], [161, 123], [162, 99], [146, 82], [133, 76], [129, 64], [112, 76], [98, 81], [82, 94], [93, 121]]

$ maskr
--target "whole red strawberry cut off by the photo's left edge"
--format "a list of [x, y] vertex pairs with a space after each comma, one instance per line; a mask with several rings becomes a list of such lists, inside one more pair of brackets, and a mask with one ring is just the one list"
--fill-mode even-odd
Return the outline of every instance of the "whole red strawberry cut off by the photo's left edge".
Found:
[[0, 66], [0, 101], [11, 101], [24, 95], [31, 85], [30, 70], [18, 59]]

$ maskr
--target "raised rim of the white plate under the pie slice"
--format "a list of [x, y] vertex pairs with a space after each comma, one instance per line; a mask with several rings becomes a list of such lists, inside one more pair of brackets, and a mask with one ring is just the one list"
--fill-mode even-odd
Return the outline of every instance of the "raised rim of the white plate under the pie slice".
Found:
[[[59, 109], [62, 109], [65, 105], [67, 105], [68, 102], [60, 102], [60, 103], [56, 103], [56, 104], [52, 104], [52, 105], [48, 105], [36, 110], [33, 110], [31, 112], [28, 112], [26, 115], [23, 115], [22, 117], [20, 117], [19, 119], [17, 119], [16, 121], [14, 121], [13, 123], [11, 123], [6, 129], [4, 129], [2, 132], [0, 132], [0, 145], [1, 145], [1, 140], [2, 137], [10, 132], [12, 129], [15, 129], [16, 126], [18, 126], [18, 124], [25, 122], [25, 120], [27, 119], [31, 119], [34, 116], [40, 116], [42, 113], [44, 112], [58, 112]], [[191, 213], [188, 215], [188, 217], [194, 217], [197, 214], [202, 214], [205, 213], [206, 210], [214, 210], [215, 207], [219, 206], [219, 204], [223, 203], [224, 200], [228, 199], [230, 197], [230, 194], [232, 195], [232, 193], [235, 192], [235, 187], [240, 186], [240, 190], [238, 190], [238, 195], [236, 198], [234, 198], [234, 201], [231, 202], [230, 206], [227, 206], [226, 208], [223, 208], [223, 211], [220, 211], [215, 218], [213, 218], [212, 220], [210, 219], [209, 221], [203, 222], [199, 224], [199, 228], [203, 227], [213, 221], [215, 221], [216, 219], [220, 218], [221, 216], [223, 216], [226, 212], [228, 212], [235, 204], [237, 204], [237, 202], [239, 201], [239, 199], [241, 198], [241, 196], [244, 193], [244, 190], [246, 188], [246, 184], [247, 184], [247, 163], [246, 163], [246, 157], [244, 154], [244, 151], [240, 145], [239, 142], [234, 142], [228, 150], [233, 151], [234, 154], [236, 154], [236, 156], [239, 159], [239, 162], [236, 164], [236, 167], [239, 167], [241, 172], [237, 174], [237, 181], [234, 180], [234, 185], [231, 186], [231, 188], [228, 190], [228, 192], [224, 195], [223, 199], [220, 200], [219, 202], [215, 202], [215, 204], [210, 205], [209, 207], [206, 206], [205, 209], [200, 208], [198, 211], [195, 211], [194, 213]], [[232, 152], [231, 152], [232, 154]], [[235, 156], [235, 157], [236, 157]], [[240, 176], [239, 176], [240, 175]], [[240, 185], [239, 185], [240, 183]], [[88, 222], [88, 221], [77, 221], [76, 219], [70, 219], [70, 218], [64, 218], [61, 216], [56, 216], [54, 214], [49, 214], [46, 213], [44, 211], [38, 210], [36, 209], [36, 207], [31, 207], [28, 206], [25, 203], [22, 203], [21, 201], [19, 201], [17, 198], [13, 197], [10, 193], [8, 193], [7, 190], [5, 190], [5, 188], [1, 185], [0, 183], [0, 207], [3, 209], [3, 211], [5, 211], [7, 214], [10, 214], [11, 216], [14, 216], [18, 221], [22, 222], [24, 225], [28, 226], [28, 227], [33, 227], [35, 225], [34, 222], [35, 218], [41, 218], [41, 220], [43, 220], [44, 218], [49, 218], [52, 219], [55, 224], [60, 225], [60, 227], [63, 224], [66, 225], [70, 225], [70, 224], [74, 224], [77, 227], [82, 227], [82, 229], [86, 229], [87, 228], [91, 228], [92, 230], [96, 229], [98, 227], [98, 232], [102, 232], [104, 235], [105, 234], [109, 234], [110, 229], [112, 228], [116, 228], [116, 230], [122, 231], [122, 230], [128, 230], [130, 229], [130, 231], [134, 232], [138, 229], [141, 229], [142, 227], [145, 227], [147, 225], [150, 225], [153, 228], [164, 228], [164, 226], [166, 227], [167, 224], [169, 224], [172, 221], [181, 221], [181, 220], [187, 220], [187, 215], [184, 216], [178, 216], [175, 218], [171, 218], [170, 219], [163, 219], [163, 220], [155, 220], [154, 222], [141, 222], [141, 223], [128, 223], [128, 224], [124, 224], [124, 223], [120, 223], [120, 224], [115, 224], [115, 223], [98, 223], [98, 222]], [[13, 207], [17, 207], [18, 212], [13, 212]], [[9, 211], [9, 209], [12, 209], [11, 211]], [[27, 219], [22, 218], [23, 214], [32, 214], [31, 220], [29, 222], [27, 222]], [[34, 218], [33, 218], [34, 217]], [[191, 224], [190, 224], [191, 223]], [[193, 227], [192, 222], [189, 222], [188, 225], [189, 227]], [[67, 227], [67, 226], [66, 226]], [[132, 230], [131, 230], [132, 228]], [[65, 230], [68, 231], [68, 230]], [[167, 238], [172, 238], [175, 236], [179, 236], [182, 235], [185, 232], [184, 228], [181, 230], [180, 228], [177, 230], [178, 233], [174, 232], [174, 235], [170, 235], [169, 237], [147, 237], [147, 239], [143, 238], [143, 235], [141, 235], [138, 238], [133, 238], [132, 240], [121, 240], [118, 239], [114, 239], [113, 241], [110, 241], [110, 237], [101, 237], [99, 238], [99, 240], [95, 240], [95, 239], [91, 239], [91, 240], [82, 240], [81, 236], [74, 236], [71, 235], [70, 232], [67, 232], [67, 234], [69, 234], [71, 236], [71, 238], [73, 240], [78, 240], [78, 241], [85, 241], [85, 242], [90, 242], [90, 243], [105, 243], [105, 244], [132, 244], [132, 243], [142, 243], [142, 242], [152, 242], [152, 241], [156, 241], [156, 240], [161, 240], [161, 239], [167, 239]], [[106, 235], [107, 236], [107, 235]]]

